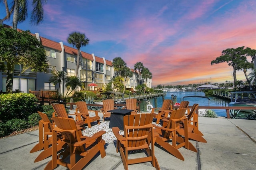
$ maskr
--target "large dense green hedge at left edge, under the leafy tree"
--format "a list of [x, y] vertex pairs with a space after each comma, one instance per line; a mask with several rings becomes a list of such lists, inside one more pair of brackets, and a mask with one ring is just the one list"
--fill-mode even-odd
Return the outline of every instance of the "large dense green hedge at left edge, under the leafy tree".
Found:
[[35, 112], [36, 96], [29, 93], [12, 93], [0, 95], [0, 120], [26, 119]]

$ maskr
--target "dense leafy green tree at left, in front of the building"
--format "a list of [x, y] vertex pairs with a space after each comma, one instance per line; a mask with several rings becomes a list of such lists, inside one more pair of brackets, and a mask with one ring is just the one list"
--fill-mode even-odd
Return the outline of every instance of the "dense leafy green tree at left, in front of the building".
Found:
[[[29, 31], [17, 30], [0, 26], [0, 57], [6, 62], [6, 91], [12, 93], [15, 63], [24, 63], [33, 71], [43, 72], [47, 67], [44, 46]], [[6, 69], [6, 70], [5, 70]]]

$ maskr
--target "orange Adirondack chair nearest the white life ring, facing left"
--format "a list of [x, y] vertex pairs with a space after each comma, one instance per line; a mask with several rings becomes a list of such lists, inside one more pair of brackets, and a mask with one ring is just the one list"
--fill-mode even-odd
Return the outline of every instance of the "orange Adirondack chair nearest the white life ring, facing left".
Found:
[[[154, 117], [156, 118], [156, 124], [160, 122], [162, 117], [167, 117], [168, 112], [172, 111], [172, 100], [171, 99], [165, 99], [163, 102], [162, 107], [155, 107], [152, 108], [151, 113], [154, 114]], [[158, 113], [155, 113], [155, 110], [158, 109]]]

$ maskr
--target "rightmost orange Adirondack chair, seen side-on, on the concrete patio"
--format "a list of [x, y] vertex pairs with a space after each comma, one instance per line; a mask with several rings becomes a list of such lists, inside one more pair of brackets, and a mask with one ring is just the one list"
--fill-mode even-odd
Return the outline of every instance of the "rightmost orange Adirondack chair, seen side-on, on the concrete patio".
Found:
[[[197, 108], [198, 104], [194, 104], [191, 111], [188, 113], [188, 138], [198, 142], [207, 143], [207, 141], [202, 137], [204, 134], [198, 130], [198, 115], [196, 114]], [[184, 135], [185, 131], [183, 122], [180, 123], [180, 129], [177, 129], [177, 132]]]

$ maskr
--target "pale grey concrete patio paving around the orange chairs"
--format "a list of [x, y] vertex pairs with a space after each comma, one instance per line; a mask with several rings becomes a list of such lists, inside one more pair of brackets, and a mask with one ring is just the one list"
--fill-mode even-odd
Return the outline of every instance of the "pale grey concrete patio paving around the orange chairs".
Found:
[[[199, 117], [199, 129], [207, 143], [191, 141], [198, 153], [185, 148], [179, 160], [160, 148], [155, 155], [161, 170], [238, 170], [256, 169], [256, 121]], [[29, 153], [38, 142], [38, 130], [0, 139], [0, 170], [43, 170], [51, 157], [34, 163], [41, 151]], [[106, 156], [96, 156], [85, 170], [123, 170], [119, 152], [113, 143], [106, 144]], [[129, 165], [130, 170], [153, 170], [150, 163]], [[56, 170], [65, 170], [58, 166]]]

